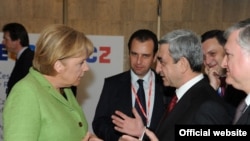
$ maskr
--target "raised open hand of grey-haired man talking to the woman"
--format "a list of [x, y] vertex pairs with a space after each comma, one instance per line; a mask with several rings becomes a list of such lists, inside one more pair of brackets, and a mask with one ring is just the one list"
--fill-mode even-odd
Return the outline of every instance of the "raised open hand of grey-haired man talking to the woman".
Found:
[[140, 137], [143, 134], [145, 126], [135, 108], [132, 109], [135, 118], [131, 118], [121, 111], [115, 111], [112, 115], [112, 122], [115, 124], [115, 130], [131, 136]]

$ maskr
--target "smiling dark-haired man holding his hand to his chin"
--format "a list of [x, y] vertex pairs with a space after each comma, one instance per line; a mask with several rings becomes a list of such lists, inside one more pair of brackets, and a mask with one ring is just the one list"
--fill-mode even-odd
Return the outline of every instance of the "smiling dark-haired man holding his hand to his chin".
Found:
[[222, 30], [209, 30], [201, 35], [202, 51], [204, 55], [204, 70], [210, 85], [229, 104], [234, 114], [235, 108], [245, 98], [245, 92], [235, 89], [225, 83], [226, 69], [221, 67], [225, 56], [224, 45], [226, 39]]

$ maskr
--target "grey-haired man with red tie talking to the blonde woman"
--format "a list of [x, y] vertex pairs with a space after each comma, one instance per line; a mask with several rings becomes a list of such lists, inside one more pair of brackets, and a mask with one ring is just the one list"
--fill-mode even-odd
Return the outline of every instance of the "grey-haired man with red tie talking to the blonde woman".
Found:
[[[153, 141], [175, 141], [176, 125], [230, 124], [225, 101], [210, 86], [202, 73], [203, 54], [199, 36], [190, 30], [174, 30], [159, 41], [156, 71], [165, 86], [176, 88], [175, 106], [172, 100]], [[151, 134], [149, 134], [151, 133]], [[123, 135], [120, 141], [128, 140]]]

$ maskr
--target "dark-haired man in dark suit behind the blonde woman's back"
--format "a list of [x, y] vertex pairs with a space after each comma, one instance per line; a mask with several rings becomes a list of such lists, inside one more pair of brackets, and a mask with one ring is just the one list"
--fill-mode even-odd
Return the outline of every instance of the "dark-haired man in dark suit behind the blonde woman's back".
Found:
[[34, 52], [29, 48], [29, 37], [25, 27], [19, 23], [9, 23], [4, 25], [3, 45], [6, 50], [15, 56], [15, 66], [9, 77], [6, 89], [6, 98], [12, 87], [22, 79], [32, 66]]

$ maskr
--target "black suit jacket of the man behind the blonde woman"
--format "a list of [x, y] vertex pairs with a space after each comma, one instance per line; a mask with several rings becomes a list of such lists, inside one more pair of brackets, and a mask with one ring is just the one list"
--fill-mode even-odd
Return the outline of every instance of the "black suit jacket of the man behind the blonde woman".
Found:
[[16, 61], [15, 66], [11, 72], [6, 94], [9, 95], [12, 87], [16, 84], [17, 81], [22, 79], [29, 72], [29, 68], [32, 66], [32, 60], [34, 58], [34, 51], [30, 48], [27, 48], [20, 55], [19, 59]]

